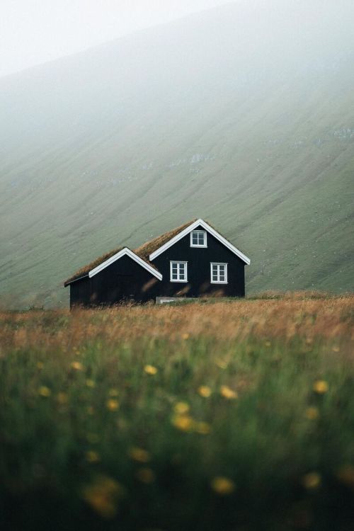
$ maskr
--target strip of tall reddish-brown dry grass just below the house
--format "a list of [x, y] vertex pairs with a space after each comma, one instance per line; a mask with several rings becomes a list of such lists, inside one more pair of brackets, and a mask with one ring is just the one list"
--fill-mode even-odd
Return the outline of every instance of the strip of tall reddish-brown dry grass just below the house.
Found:
[[72, 312], [0, 313], [0, 345], [8, 348], [58, 346], [64, 350], [83, 341], [105, 343], [135, 338], [169, 338], [182, 334], [221, 341], [249, 336], [290, 341], [315, 338], [341, 344], [353, 352], [354, 297], [261, 299], [175, 306], [121, 306]]

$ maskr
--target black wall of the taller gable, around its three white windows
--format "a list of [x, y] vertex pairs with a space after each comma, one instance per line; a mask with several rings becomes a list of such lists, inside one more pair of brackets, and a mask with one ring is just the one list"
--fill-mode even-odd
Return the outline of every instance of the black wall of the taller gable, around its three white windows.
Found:
[[[195, 230], [204, 230], [198, 227]], [[188, 262], [188, 282], [170, 282], [170, 261]], [[210, 282], [210, 262], [227, 263], [227, 284]], [[244, 261], [207, 233], [207, 247], [190, 247], [190, 234], [157, 256], [153, 263], [162, 274], [161, 296], [244, 297]]]

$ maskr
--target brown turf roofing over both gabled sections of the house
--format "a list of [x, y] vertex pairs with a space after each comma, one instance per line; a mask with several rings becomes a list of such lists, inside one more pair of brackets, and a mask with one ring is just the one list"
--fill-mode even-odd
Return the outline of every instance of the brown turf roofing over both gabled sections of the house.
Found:
[[[142, 260], [147, 262], [149, 265], [152, 265], [153, 268], [156, 269], [155, 265], [151, 262], [149, 262], [149, 255], [159, 249], [161, 246], [167, 243], [170, 239], [174, 238], [174, 236], [177, 236], [180, 232], [182, 232], [184, 229], [189, 227], [192, 223], [194, 223], [196, 219], [192, 219], [192, 221], [185, 223], [181, 225], [181, 227], [176, 227], [176, 229], [173, 229], [169, 232], [165, 232], [164, 234], [161, 234], [160, 236], [157, 236], [156, 238], [147, 241], [146, 244], [143, 244], [137, 249], [133, 249], [133, 252], [137, 254]], [[113, 249], [113, 251], [109, 251], [108, 253], [103, 254], [102, 256], [99, 256], [96, 258], [96, 260], [93, 260], [92, 262], [88, 263], [87, 265], [84, 265], [84, 267], [80, 268], [74, 275], [72, 275], [70, 278], [65, 280], [64, 286], [67, 286], [71, 282], [74, 282], [74, 280], [78, 280], [81, 277], [86, 277], [89, 275], [89, 271], [96, 268], [101, 263], [108, 260], [108, 258], [111, 258], [111, 256], [115, 255], [116, 253], [119, 253], [119, 251], [122, 251], [124, 247], [118, 247], [118, 249]]]

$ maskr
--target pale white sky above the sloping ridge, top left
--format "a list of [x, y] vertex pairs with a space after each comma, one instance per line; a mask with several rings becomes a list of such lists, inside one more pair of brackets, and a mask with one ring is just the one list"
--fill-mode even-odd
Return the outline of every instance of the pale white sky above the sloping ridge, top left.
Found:
[[0, 0], [0, 76], [227, 3], [228, 0]]

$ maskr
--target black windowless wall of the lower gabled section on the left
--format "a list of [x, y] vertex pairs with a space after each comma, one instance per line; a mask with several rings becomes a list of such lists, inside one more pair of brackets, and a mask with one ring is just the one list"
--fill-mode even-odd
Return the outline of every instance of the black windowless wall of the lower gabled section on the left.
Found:
[[159, 280], [129, 256], [122, 256], [92, 278], [70, 285], [70, 307], [100, 306], [135, 300], [147, 302], [156, 297]]

